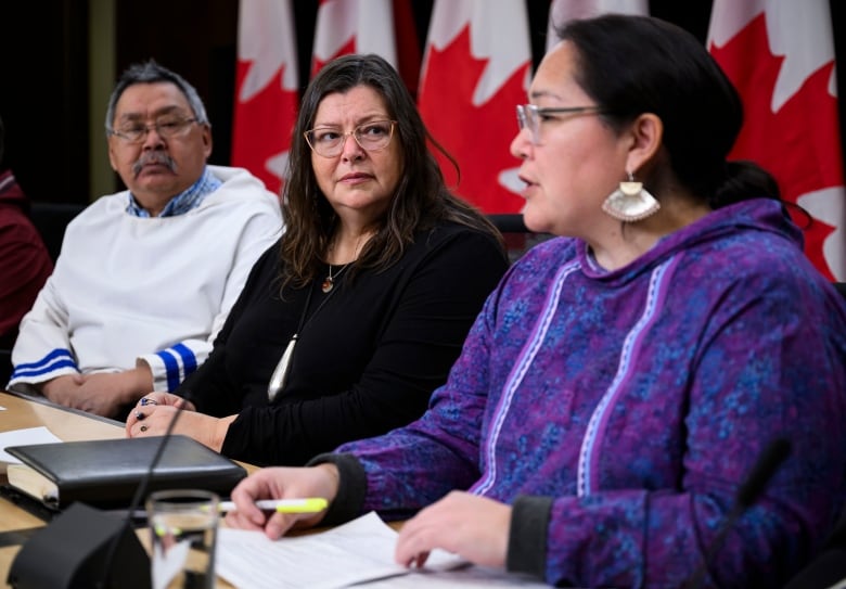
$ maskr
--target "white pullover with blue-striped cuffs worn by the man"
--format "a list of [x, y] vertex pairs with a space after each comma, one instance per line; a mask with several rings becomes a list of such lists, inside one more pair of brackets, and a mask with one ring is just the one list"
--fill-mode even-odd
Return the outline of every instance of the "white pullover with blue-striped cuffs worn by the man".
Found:
[[157, 390], [202, 363], [253, 263], [283, 229], [279, 200], [246, 170], [174, 217], [126, 213], [103, 196], [68, 226], [55, 270], [21, 323], [7, 388], [145, 360]]

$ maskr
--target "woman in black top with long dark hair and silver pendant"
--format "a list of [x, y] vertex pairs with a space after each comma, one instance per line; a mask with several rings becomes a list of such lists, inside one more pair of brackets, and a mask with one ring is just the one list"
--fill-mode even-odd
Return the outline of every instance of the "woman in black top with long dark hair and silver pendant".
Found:
[[[129, 436], [175, 433], [254, 464], [304, 464], [419, 418], [508, 268], [452, 195], [397, 72], [344, 56], [307, 88], [286, 231], [256, 263], [208, 360], [141, 399]], [[432, 141], [432, 144], [436, 143]]]

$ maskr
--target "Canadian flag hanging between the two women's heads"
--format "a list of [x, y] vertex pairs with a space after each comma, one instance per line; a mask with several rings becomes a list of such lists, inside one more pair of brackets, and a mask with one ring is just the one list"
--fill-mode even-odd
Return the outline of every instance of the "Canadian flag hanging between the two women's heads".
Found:
[[517, 213], [517, 162], [509, 152], [515, 106], [526, 102], [531, 67], [525, 0], [435, 0], [419, 108], [447, 183], [485, 213]]

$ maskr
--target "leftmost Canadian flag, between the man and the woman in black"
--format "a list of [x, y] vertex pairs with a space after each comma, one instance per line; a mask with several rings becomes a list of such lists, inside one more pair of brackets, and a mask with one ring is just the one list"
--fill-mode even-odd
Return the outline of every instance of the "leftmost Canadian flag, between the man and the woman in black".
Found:
[[294, 46], [290, 0], [241, 0], [231, 162], [278, 194], [299, 102]]

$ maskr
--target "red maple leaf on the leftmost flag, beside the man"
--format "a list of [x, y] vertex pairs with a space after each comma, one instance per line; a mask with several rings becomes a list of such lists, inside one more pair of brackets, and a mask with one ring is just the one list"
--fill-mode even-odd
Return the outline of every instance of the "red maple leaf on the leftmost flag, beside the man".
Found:
[[280, 194], [282, 180], [268, 168], [268, 161], [291, 146], [297, 91], [282, 88], [283, 65], [260, 92], [246, 102], [240, 102], [239, 93], [249, 67], [249, 61], [238, 62], [231, 162], [233, 166], [248, 169], [265, 182], [269, 191]]

